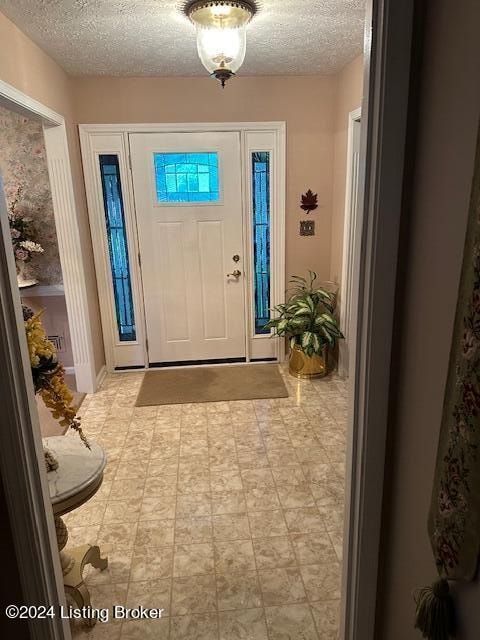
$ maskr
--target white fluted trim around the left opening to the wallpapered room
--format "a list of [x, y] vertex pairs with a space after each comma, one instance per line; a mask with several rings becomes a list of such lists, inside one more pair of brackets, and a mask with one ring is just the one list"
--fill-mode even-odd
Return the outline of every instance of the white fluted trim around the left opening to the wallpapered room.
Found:
[[2, 80], [0, 104], [43, 125], [77, 389], [92, 393], [97, 374], [65, 119]]

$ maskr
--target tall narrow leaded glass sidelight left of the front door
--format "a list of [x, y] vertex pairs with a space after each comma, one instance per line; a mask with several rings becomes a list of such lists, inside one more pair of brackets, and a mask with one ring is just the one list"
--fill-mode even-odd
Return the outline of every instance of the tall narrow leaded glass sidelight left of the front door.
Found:
[[120, 168], [116, 155], [100, 155], [99, 161], [118, 337], [120, 342], [131, 342], [136, 340], [136, 329]]

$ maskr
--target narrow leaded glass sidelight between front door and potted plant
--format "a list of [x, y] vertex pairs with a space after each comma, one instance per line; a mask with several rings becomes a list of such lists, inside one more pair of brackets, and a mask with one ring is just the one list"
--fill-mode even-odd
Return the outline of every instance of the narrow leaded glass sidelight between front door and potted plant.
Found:
[[270, 153], [252, 153], [255, 333], [270, 320]]

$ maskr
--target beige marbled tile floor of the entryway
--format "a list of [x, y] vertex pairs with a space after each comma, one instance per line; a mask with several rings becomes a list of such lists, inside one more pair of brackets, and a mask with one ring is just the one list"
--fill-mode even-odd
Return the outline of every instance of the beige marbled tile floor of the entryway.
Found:
[[92, 605], [165, 609], [77, 639], [337, 638], [346, 386], [282, 375], [289, 398], [135, 408], [141, 373], [109, 376], [82, 405], [108, 454], [100, 491], [65, 516]]

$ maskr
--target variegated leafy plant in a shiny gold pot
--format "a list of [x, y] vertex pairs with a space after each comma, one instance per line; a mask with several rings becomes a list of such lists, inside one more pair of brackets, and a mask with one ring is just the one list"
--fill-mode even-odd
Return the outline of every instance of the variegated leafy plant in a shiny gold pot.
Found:
[[309, 279], [293, 276], [290, 296], [285, 304], [273, 308], [278, 314], [265, 326], [290, 340], [290, 374], [314, 378], [328, 373], [328, 354], [344, 336], [334, 316], [336, 295], [316, 284], [317, 274]]

